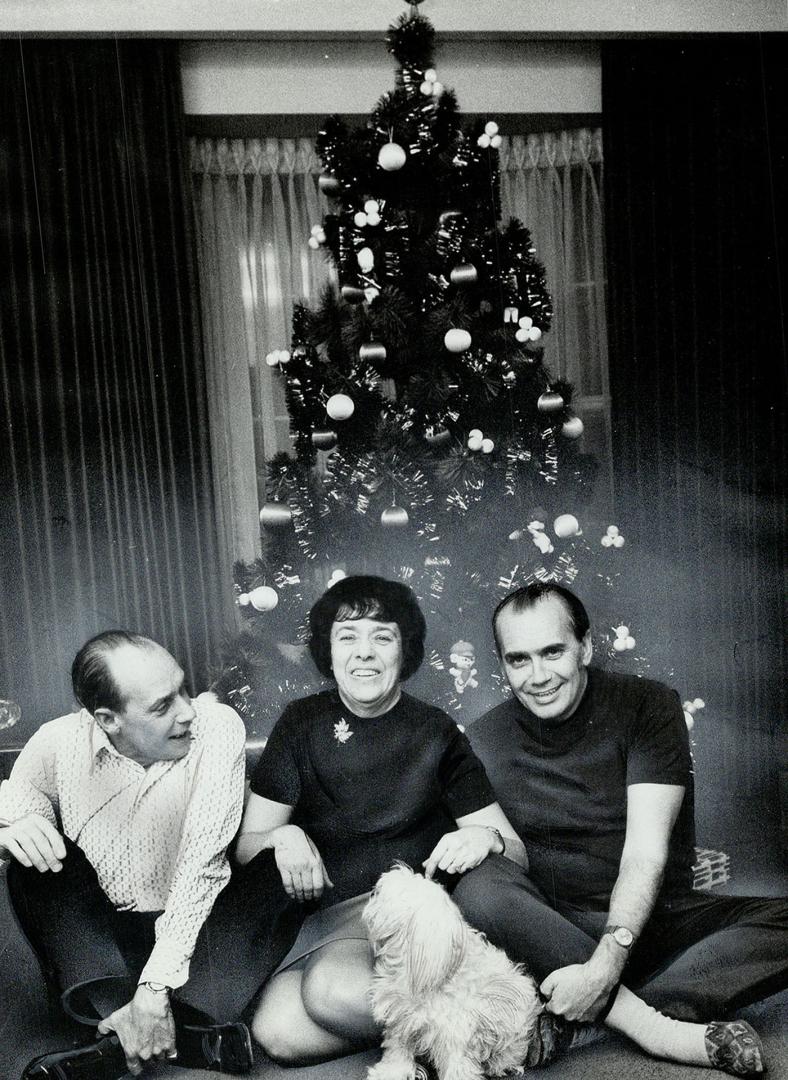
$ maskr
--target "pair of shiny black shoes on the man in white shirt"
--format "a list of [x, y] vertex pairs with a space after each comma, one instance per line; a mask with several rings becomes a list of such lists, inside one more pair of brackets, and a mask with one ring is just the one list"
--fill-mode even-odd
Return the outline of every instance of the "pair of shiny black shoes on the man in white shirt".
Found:
[[[185, 1025], [178, 1028], [176, 1043], [174, 1065], [239, 1076], [248, 1072], [254, 1062], [245, 1024]], [[79, 1050], [41, 1054], [25, 1068], [22, 1080], [119, 1080], [125, 1075], [126, 1058], [112, 1035]]]

